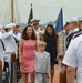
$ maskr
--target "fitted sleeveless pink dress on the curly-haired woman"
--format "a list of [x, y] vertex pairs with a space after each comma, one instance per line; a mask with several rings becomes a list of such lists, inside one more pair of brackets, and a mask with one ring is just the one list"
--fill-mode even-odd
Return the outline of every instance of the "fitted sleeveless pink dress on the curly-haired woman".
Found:
[[23, 40], [23, 52], [22, 52], [22, 63], [21, 72], [28, 73], [34, 71], [35, 61], [35, 40]]

